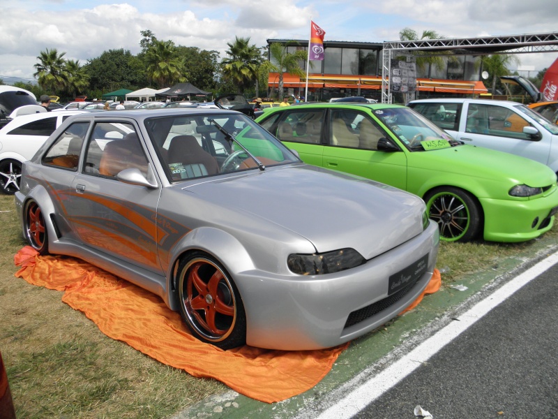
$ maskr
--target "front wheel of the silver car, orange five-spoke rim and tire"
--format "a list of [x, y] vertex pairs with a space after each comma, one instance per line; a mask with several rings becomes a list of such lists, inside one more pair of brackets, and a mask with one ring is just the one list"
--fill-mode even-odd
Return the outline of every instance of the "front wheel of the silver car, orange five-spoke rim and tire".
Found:
[[197, 339], [222, 349], [246, 343], [246, 314], [234, 281], [203, 252], [183, 258], [178, 269], [181, 315]]

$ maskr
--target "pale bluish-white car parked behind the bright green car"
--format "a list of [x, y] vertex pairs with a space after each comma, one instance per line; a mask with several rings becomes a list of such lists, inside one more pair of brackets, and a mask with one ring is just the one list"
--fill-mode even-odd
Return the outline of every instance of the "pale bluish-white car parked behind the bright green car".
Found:
[[539, 161], [558, 173], [558, 126], [527, 106], [489, 99], [411, 101], [455, 140]]

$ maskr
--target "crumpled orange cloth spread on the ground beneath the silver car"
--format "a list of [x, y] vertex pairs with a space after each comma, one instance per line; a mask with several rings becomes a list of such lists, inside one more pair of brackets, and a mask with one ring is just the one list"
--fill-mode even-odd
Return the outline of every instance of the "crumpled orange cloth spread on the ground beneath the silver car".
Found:
[[16, 277], [65, 291], [63, 302], [83, 311], [108, 337], [193, 376], [216, 378], [262, 402], [279, 402], [310, 390], [349, 346], [321, 351], [242, 346], [223, 351], [190, 335], [180, 314], [168, 309], [158, 296], [82, 260], [39, 256], [27, 246], [14, 256], [14, 262], [21, 266]]

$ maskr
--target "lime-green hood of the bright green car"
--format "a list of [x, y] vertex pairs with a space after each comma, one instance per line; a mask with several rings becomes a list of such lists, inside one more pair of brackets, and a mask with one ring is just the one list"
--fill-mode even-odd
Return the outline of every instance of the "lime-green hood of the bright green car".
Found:
[[474, 145], [412, 152], [408, 155], [407, 164], [409, 168], [425, 170], [434, 168], [439, 172], [448, 172], [452, 175], [492, 181], [502, 179], [513, 184], [527, 184], [533, 187], [556, 183], [555, 172], [542, 163]]

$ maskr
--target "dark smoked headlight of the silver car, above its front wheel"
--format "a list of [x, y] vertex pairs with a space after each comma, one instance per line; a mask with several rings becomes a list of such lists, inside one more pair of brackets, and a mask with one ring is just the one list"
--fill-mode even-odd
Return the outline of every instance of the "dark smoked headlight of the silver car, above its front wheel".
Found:
[[332, 274], [365, 263], [354, 249], [340, 249], [311, 255], [291, 254], [287, 258], [289, 270], [299, 275]]

